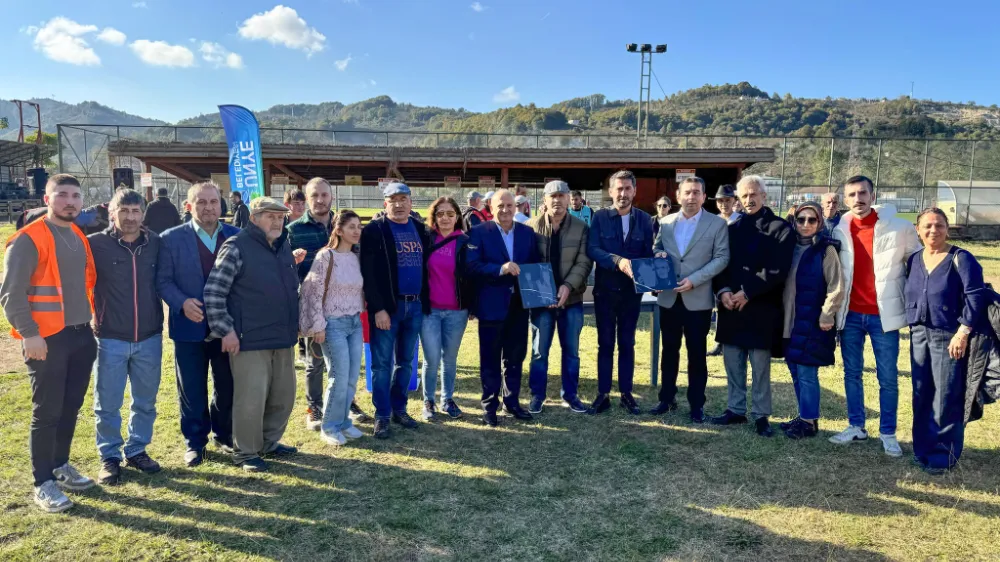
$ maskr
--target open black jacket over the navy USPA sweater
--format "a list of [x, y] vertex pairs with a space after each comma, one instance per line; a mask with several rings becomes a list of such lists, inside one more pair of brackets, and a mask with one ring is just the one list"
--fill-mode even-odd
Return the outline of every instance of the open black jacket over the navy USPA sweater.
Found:
[[[430, 249], [430, 235], [427, 227], [413, 221], [420, 236], [426, 259]], [[365, 301], [371, 318], [381, 310], [396, 312], [396, 296], [399, 295], [399, 272], [396, 258], [396, 240], [392, 236], [389, 219], [381, 216], [372, 219], [361, 231], [361, 276], [365, 281]], [[420, 302], [423, 308], [430, 306], [430, 291], [427, 287], [427, 268], [423, 268], [420, 284]]]

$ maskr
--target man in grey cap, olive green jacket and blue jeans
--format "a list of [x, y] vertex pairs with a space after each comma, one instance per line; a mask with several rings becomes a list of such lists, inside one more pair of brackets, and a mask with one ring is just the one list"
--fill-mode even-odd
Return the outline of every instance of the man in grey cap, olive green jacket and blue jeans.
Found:
[[528, 386], [531, 401], [528, 412], [539, 414], [545, 403], [548, 386], [549, 349], [558, 328], [562, 348], [562, 401], [570, 410], [586, 413], [587, 407], [577, 396], [580, 383], [580, 333], [583, 331], [583, 293], [594, 262], [587, 257], [590, 228], [583, 220], [569, 214], [570, 190], [564, 181], [545, 184], [545, 214], [530, 221], [535, 231], [539, 261], [552, 264], [552, 276], [558, 287], [556, 304], [533, 308], [531, 322], [531, 365]]

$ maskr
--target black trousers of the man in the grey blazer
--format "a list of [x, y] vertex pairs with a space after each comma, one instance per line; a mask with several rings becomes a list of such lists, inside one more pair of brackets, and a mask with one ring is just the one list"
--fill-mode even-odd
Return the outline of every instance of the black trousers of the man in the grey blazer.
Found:
[[673, 402], [677, 396], [677, 371], [680, 368], [681, 336], [688, 352], [688, 404], [692, 410], [705, 406], [705, 386], [708, 384], [707, 354], [708, 330], [712, 325], [711, 310], [688, 310], [684, 299], [677, 296], [674, 306], [660, 307], [660, 339], [663, 356], [660, 372], [660, 402]]

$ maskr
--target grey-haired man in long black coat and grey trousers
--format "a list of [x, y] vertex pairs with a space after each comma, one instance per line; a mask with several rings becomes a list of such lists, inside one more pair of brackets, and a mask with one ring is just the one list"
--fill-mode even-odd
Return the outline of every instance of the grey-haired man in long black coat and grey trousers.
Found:
[[764, 181], [747, 176], [736, 185], [744, 214], [729, 225], [729, 264], [713, 282], [719, 297], [715, 339], [722, 344], [728, 408], [717, 425], [747, 422], [747, 360], [753, 367], [751, 414], [757, 434], [770, 437], [771, 356], [780, 349], [782, 293], [792, 265], [795, 231], [764, 206]]

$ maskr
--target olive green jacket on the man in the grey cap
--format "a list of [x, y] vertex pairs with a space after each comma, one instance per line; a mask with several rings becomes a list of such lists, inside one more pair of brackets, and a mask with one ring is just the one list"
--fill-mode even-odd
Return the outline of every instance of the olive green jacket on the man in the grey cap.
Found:
[[[539, 215], [528, 221], [528, 226], [535, 231], [538, 241], [539, 261], [550, 262], [550, 243], [552, 240], [552, 224], [549, 216]], [[566, 304], [576, 304], [583, 301], [583, 293], [587, 290], [587, 278], [593, 269], [594, 262], [587, 257], [587, 236], [590, 228], [569, 213], [559, 227], [559, 275], [563, 285], [570, 289]]]

